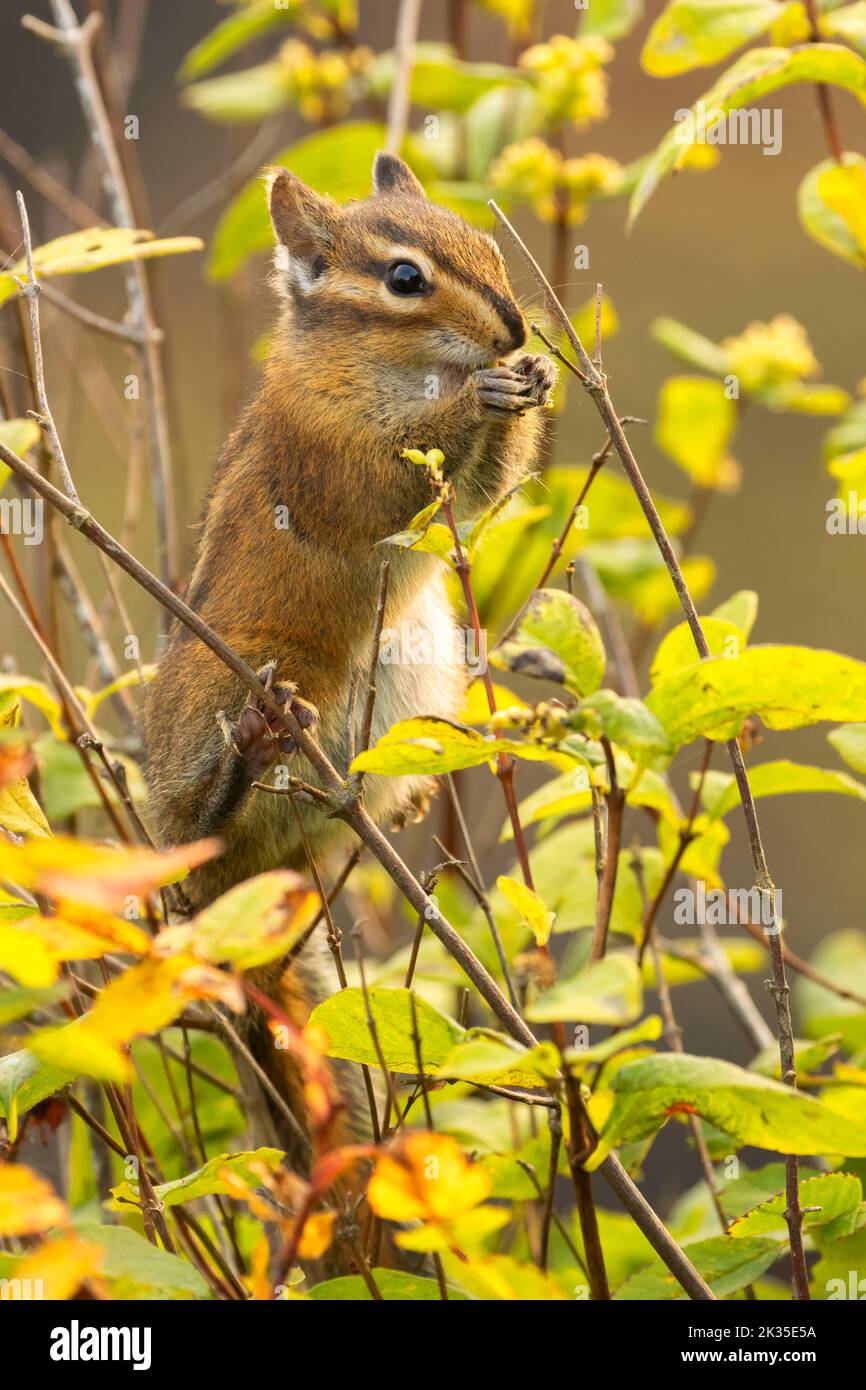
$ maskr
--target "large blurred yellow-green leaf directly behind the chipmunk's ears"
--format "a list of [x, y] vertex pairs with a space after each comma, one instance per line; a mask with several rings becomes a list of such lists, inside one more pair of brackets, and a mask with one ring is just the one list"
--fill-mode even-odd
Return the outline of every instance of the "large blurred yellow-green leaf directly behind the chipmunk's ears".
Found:
[[[348, 121], [289, 145], [270, 161], [296, 174], [318, 193], [345, 203], [370, 193], [373, 160], [385, 140], [385, 128]], [[228, 279], [253, 254], [274, 245], [274, 232], [260, 177], [228, 204], [211, 245], [207, 265], [211, 279]]]

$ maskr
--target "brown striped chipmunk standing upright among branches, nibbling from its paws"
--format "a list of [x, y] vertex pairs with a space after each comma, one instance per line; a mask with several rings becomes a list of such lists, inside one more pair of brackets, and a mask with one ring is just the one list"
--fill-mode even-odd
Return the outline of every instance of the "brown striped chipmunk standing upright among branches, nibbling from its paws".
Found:
[[[270, 213], [284, 311], [261, 388], [213, 480], [188, 602], [292, 701], [346, 773], [382, 560], [374, 548], [432, 496], [402, 450], [441, 449], [457, 517], [478, 514], [525, 474], [556, 368], [521, 352], [527, 324], [492, 238], [432, 204], [402, 160], [377, 156], [373, 195], [346, 206], [278, 171]], [[386, 626], [453, 635], [441, 562], [393, 555]], [[381, 664], [373, 742], [400, 719], [455, 719], [463, 694], [457, 664]], [[256, 873], [306, 869], [289, 798], [253, 787], [296, 752], [289, 735], [185, 628], [158, 663], [145, 724], [154, 838], [225, 845], [185, 881], [193, 908]], [[292, 771], [316, 780], [302, 756]], [[428, 778], [371, 776], [364, 803], [385, 823], [428, 790]], [[342, 821], [295, 805], [320, 866], [350, 844]], [[320, 942], [261, 983], [297, 1024], [336, 987]], [[277, 1076], [264, 1020], [250, 1026], [253, 1051]], [[278, 1084], [303, 1112], [297, 1079]], [[296, 1133], [277, 1133], [303, 1170]]]

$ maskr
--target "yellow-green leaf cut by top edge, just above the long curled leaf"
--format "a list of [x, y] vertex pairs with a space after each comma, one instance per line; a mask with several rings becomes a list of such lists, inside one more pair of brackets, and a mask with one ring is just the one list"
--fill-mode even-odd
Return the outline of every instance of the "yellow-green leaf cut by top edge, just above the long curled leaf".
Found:
[[671, 78], [721, 63], [784, 14], [777, 0], [670, 0], [641, 53], [653, 78]]

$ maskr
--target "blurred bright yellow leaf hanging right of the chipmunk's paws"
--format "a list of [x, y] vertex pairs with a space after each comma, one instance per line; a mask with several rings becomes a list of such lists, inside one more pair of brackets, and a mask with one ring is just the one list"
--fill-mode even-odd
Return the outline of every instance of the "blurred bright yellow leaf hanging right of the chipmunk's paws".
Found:
[[671, 377], [659, 392], [656, 443], [698, 486], [730, 491], [738, 478], [727, 446], [737, 406], [720, 381]]

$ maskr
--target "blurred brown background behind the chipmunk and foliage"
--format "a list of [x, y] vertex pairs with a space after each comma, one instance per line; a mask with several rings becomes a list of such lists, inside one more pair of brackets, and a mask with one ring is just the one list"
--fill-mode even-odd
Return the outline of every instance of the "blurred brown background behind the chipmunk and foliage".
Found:
[[[395, 0], [360, 0], [360, 26], [353, 43], [368, 46], [375, 54], [392, 47], [396, 8]], [[566, 126], [564, 154], [601, 153], [628, 167], [655, 149], [674, 113], [710, 85], [713, 70], [660, 81], [641, 68], [641, 46], [660, 8], [651, 0], [632, 31], [616, 42], [614, 56], [605, 68], [609, 115], [584, 131], [573, 124]], [[253, 177], [256, 165], [309, 135], [318, 122], [289, 107], [265, 121], [225, 124], [207, 120], [185, 103], [178, 71], [193, 46], [229, 13], [215, 0], [79, 0], [79, 17], [89, 10], [101, 11], [114, 35], [107, 76], [117, 114], [138, 117], [139, 138], [129, 170], [139, 225], [165, 236], [195, 234], [209, 247], [225, 207]], [[457, 32], [456, 10], [460, 11]], [[35, 245], [75, 229], [25, 177], [25, 156], [81, 202], [106, 211], [70, 65], [49, 44], [21, 29], [19, 19], [26, 11], [50, 21], [44, 0], [29, 4], [4, 0], [0, 13], [6, 74], [0, 88], [4, 257], [19, 253], [17, 188], [28, 199]], [[538, 18], [545, 36], [574, 35], [580, 14], [570, 0], [548, 0]], [[253, 39], [220, 71], [239, 72], [263, 63], [284, 38], [265, 33]], [[473, 61], [506, 64], [514, 56], [516, 40], [502, 18], [475, 3], [455, 7], [446, 0], [424, 0], [420, 38], [435, 42], [456, 38]], [[588, 247], [589, 265], [573, 271], [564, 284], [557, 281], [556, 288], [567, 297], [569, 307], [577, 310], [595, 295], [601, 281], [616, 306], [619, 332], [606, 342], [605, 366], [621, 413], [652, 423], [662, 382], [684, 370], [651, 335], [657, 316], [680, 320], [719, 342], [740, 334], [753, 320], [792, 314], [808, 329], [822, 364], [822, 381], [853, 395], [866, 375], [862, 271], [828, 256], [805, 235], [796, 218], [798, 186], [827, 157], [815, 92], [790, 88], [766, 104], [784, 110], [783, 147], [777, 157], [765, 156], [758, 146], [724, 149], [714, 168], [664, 181], [630, 234], [624, 197], [594, 202], [587, 221], [569, 231], [574, 245]], [[863, 149], [862, 106], [848, 93], [837, 93], [835, 106], [847, 149]], [[378, 114], [381, 118], [382, 113]], [[411, 129], [421, 128], [430, 114], [416, 106]], [[363, 113], [366, 120], [375, 115], [371, 110]], [[259, 142], [252, 153], [250, 142]], [[553, 272], [552, 228], [518, 204], [514, 217], [542, 265]], [[150, 270], [156, 314], [165, 331], [177, 518], [185, 569], [209, 471], [239, 406], [254, 386], [256, 345], [274, 318], [265, 254], [249, 257], [231, 279], [221, 281], [209, 278], [207, 260], [206, 249]], [[513, 278], [517, 292], [531, 296], [532, 286], [517, 265]], [[122, 317], [121, 271], [104, 270], [75, 284], [65, 281], [63, 288], [99, 313]], [[50, 399], [79, 492], [110, 531], [117, 534], [126, 523], [132, 548], [153, 564], [153, 507], [146, 471], [129, 492], [126, 352], [72, 324], [47, 302], [42, 313]], [[0, 324], [0, 370], [15, 413], [22, 413], [29, 402], [18, 375], [17, 334], [10, 306]], [[826, 505], [835, 484], [822, 461], [822, 439], [831, 424], [833, 420], [816, 416], [776, 414], [752, 406], [742, 411], [733, 443], [742, 466], [740, 491], [712, 499], [699, 535], [701, 553], [712, 556], [717, 567], [702, 609], [708, 612], [735, 589], [755, 589], [760, 596], [755, 641], [827, 646], [866, 657], [866, 539], [828, 535], [826, 528]], [[689, 480], [656, 446], [652, 427], [635, 431], [632, 442], [651, 486], [685, 498]], [[556, 427], [556, 461], [585, 466], [601, 443], [595, 410], [577, 391], [570, 392]], [[83, 543], [76, 538], [72, 543], [86, 582], [100, 595], [101, 571]], [[156, 651], [153, 607], [132, 585], [125, 585], [124, 594], [132, 630], [140, 637], [142, 657], [150, 660]], [[0, 656], [7, 669], [35, 671], [38, 656], [10, 621], [8, 612], [3, 612], [0, 623]], [[81, 642], [68, 616], [61, 619], [61, 627], [68, 674], [79, 680], [86, 666]], [[655, 638], [645, 667], [653, 645]], [[822, 727], [767, 734], [753, 756], [841, 766], [824, 734]], [[683, 774], [689, 759], [694, 766], [698, 758], [695, 748], [681, 759], [680, 788], [685, 787]], [[532, 783], [521, 769], [521, 792]], [[498, 830], [499, 805], [491, 809], [487, 802], [485, 812], [480, 799], [475, 815], [481, 824], [485, 815], [492, 815], [492, 830]], [[760, 820], [770, 867], [784, 894], [791, 945], [808, 955], [828, 931], [860, 926], [865, 806], [841, 796], [817, 801], [780, 796], [762, 803]], [[751, 863], [745, 835], [737, 817], [730, 824], [733, 842], [726, 852], [726, 878], [746, 885]], [[430, 859], [435, 849], [427, 847], [421, 853]], [[491, 858], [491, 872], [505, 863]], [[752, 976], [751, 981], [769, 1017], [760, 980]], [[748, 1042], [709, 986], [680, 991], [677, 1008], [691, 1051], [738, 1062], [748, 1059]], [[653, 1183], [663, 1191], [669, 1179], [656, 1155], [663, 1159], [666, 1145], [663, 1136], [653, 1151]], [[670, 1183], [673, 1190], [673, 1173]]]

